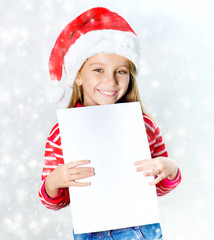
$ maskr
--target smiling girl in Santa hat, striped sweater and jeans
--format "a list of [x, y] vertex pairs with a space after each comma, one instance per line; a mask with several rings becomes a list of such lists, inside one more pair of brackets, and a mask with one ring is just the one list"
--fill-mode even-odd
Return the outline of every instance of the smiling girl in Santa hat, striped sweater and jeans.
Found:
[[[139, 42], [130, 25], [105, 8], [93, 8], [69, 23], [59, 35], [51, 52], [49, 70], [52, 80], [61, 80], [64, 64], [68, 84], [73, 87], [68, 107], [84, 107], [139, 101], [136, 82], [139, 69]], [[159, 127], [141, 104], [152, 159], [135, 162], [136, 171], [154, 176], [157, 195], [163, 196], [181, 181], [175, 161], [168, 158]], [[42, 203], [58, 210], [70, 203], [69, 187], [87, 187], [94, 176], [89, 160], [64, 164], [60, 129], [56, 124], [46, 142], [45, 162], [39, 195]], [[104, 232], [74, 234], [86, 239], [162, 239], [160, 224], [136, 226]]]

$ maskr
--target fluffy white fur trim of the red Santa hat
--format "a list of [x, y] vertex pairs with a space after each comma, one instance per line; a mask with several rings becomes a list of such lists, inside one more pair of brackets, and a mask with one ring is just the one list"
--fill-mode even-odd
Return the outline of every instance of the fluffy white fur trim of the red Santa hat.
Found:
[[115, 53], [128, 58], [139, 68], [140, 45], [137, 36], [118, 30], [96, 30], [83, 34], [70, 46], [64, 57], [68, 84], [73, 86], [79, 69], [86, 59], [99, 53]]

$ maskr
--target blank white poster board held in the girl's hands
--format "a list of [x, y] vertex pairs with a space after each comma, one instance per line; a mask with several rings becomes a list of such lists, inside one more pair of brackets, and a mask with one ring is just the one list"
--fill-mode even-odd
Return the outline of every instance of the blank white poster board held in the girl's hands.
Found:
[[159, 222], [152, 177], [134, 162], [151, 158], [140, 104], [57, 111], [65, 163], [89, 159], [88, 187], [70, 187], [74, 232], [87, 233]]

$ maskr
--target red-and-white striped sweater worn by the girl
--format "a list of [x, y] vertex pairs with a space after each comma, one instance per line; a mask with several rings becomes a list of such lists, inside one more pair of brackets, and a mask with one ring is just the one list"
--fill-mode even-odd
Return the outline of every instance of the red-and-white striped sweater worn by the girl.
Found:
[[[83, 107], [77, 104], [77, 107]], [[147, 115], [143, 115], [150, 152], [152, 158], [168, 157], [165, 144], [160, 133], [159, 127]], [[58, 210], [66, 207], [70, 203], [69, 189], [62, 188], [58, 196], [50, 198], [45, 192], [45, 179], [55, 168], [64, 164], [63, 153], [61, 148], [61, 137], [58, 123], [52, 128], [46, 142], [44, 167], [42, 172], [42, 182], [39, 188], [41, 202], [49, 209]], [[172, 191], [181, 181], [181, 173], [178, 171], [176, 179], [173, 181], [167, 178], [163, 179], [156, 185], [158, 196], [164, 196]]]

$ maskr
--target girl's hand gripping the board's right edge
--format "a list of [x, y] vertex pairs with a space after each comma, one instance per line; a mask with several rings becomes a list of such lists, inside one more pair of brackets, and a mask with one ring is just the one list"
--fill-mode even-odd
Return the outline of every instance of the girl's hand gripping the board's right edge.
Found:
[[178, 166], [176, 162], [167, 157], [157, 157], [136, 161], [135, 166], [137, 172], [144, 172], [144, 176], [155, 176], [156, 179], [149, 183], [150, 186], [155, 185], [162, 181], [164, 178], [174, 180], [178, 173]]

